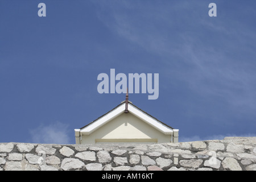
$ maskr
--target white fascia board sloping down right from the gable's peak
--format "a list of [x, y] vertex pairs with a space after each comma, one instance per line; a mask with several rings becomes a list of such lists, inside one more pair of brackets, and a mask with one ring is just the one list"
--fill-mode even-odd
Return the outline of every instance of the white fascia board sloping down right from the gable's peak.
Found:
[[172, 135], [173, 130], [170, 127], [167, 127], [166, 125], [163, 125], [163, 123], [157, 121], [156, 119], [150, 117], [146, 113], [143, 113], [143, 111], [137, 109], [133, 105], [128, 106], [128, 110], [130, 113], [134, 114], [138, 118], [141, 118], [144, 122], [148, 123], [148, 125], [154, 127], [155, 129], [159, 130], [160, 132], [166, 134], [166, 135]]

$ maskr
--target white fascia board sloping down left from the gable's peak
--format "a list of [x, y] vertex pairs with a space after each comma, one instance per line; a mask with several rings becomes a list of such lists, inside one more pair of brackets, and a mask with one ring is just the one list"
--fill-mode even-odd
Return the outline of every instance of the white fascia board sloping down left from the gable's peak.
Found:
[[118, 115], [122, 114], [123, 111], [125, 111], [125, 103], [115, 108], [113, 111], [110, 111], [110, 113], [104, 115], [97, 121], [94, 121], [92, 124], [86, 126], [84, 129], [80, 131], [82, 135], [89, 135], [93, 131], [97, 130], [101, 126], [108, 123], [110, 120], [114, 119], [115, 117], [118, 117]]

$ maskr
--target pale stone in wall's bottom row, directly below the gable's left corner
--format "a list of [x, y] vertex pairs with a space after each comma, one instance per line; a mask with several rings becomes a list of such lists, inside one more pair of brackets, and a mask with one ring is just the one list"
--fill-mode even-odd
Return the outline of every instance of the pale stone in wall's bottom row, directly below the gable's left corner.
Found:
[[61, 162], [60, 166], [64, 171], [72, 170], [72, 169], [80, 169], [84, 168], [85, 164], [81, 162], [79, 159], [73, 159], [73, 158], [65, 158]]

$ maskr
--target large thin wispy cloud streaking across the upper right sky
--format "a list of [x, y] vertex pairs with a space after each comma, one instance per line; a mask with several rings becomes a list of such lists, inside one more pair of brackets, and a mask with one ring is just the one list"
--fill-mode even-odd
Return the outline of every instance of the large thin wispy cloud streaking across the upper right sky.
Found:
[[209, 19], [196, 12], [208, 13], [204, 1], [188, 2], [101, 3], [98, 16], [115, 34], [158, 55], [167, 80], [182, 81], [202, 98], [220, 98], [236, 113], [255, 113], [254, 28], [239, 17]]

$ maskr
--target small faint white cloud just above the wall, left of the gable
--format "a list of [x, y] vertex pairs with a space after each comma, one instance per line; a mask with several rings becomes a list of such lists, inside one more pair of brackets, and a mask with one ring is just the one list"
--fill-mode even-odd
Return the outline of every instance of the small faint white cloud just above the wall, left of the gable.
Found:
[[68, 125], [59, 121], [30, 130], [33, 143], [69, 144]]

